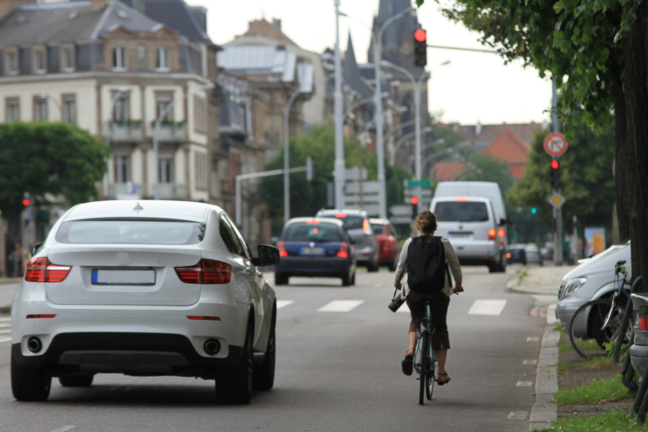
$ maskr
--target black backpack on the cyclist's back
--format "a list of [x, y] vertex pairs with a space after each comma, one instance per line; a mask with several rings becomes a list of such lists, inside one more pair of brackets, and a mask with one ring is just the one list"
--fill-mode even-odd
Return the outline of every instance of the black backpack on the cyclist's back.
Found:
[[408, 286], [411, 291], [436, 293], [445, 287], [448, 268], [441, 237], [421, 235], [413, 238], [408, 246], [407, 263]]

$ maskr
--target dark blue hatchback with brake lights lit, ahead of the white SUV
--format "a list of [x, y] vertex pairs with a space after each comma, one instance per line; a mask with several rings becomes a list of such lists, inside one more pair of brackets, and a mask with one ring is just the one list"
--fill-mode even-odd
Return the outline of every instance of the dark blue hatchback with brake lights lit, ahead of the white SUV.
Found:
[[281, 233], [275, 285], [290, 276], [341, 278], [347, 287], [356, 282], [356, 251], [344, 224], [328, 217], [295, 217]]

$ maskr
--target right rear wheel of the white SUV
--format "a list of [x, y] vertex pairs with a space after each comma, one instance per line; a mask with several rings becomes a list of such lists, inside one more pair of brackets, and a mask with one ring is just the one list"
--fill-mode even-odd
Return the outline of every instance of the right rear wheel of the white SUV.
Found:
[[216, 400], [220, 403], [249, 403], [252, 399], [254, 375], [254, 321], [250, 310], [246, 341], [243, 345], [240, 363], [234, 370], [219, 370], [216, 373]]

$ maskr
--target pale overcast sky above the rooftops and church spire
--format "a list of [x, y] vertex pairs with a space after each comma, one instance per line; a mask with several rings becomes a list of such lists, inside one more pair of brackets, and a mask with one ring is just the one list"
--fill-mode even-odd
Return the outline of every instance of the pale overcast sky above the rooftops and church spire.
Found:
[[[186, 0], [190, 5], [205, 6], [207, 25], [214, 43], [224, 44], [248, 29], [248, 21], [265, 16], [280, 18], [282, 30], [303, 49], [321, 53], [335, 43], [334, 0]], [[378, 0], [341, 0], [340, 10], [371, 25], [378, 10]], [[483, 48], [479, 34], [461, 24], [445, 19], [439, 5], [427, 0], [419, 9], [419, 22], [428, 32], [431, 45]], [[369, 29], [348, 18], [340, 18], [341, 49], [351, 32], [358, 63], [367, 61]], [[450, 60], [448, 66], [436, 65]], [[412, 60], [413, 61], [413, 60]], [[504, 66], [496, 54], [467, 53], [447, 49], [428, 49], [428, 86], [430, 112], [443, 111], [443, 121], [461, 124], [542, 122], [548, 119], [550, 81], [535, 69], [520, 64]]]

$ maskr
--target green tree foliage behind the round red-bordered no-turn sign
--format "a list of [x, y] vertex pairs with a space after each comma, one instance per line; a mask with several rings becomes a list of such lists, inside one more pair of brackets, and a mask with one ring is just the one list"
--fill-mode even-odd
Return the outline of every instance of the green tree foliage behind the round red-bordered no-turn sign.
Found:
[[[524, 177], [516, 182], [507, 200], [513, 206], [535, 207], [538, 217], [551, 219], [551, 158], [542, 143], [545, 132], [531, 141]], [[614, 131], [597, 136], [586, 126], [575, 128], [568, 151], [560, 159], [563, 226], [576, 215], [585, 225], [612, 226], [614, 205]]]

